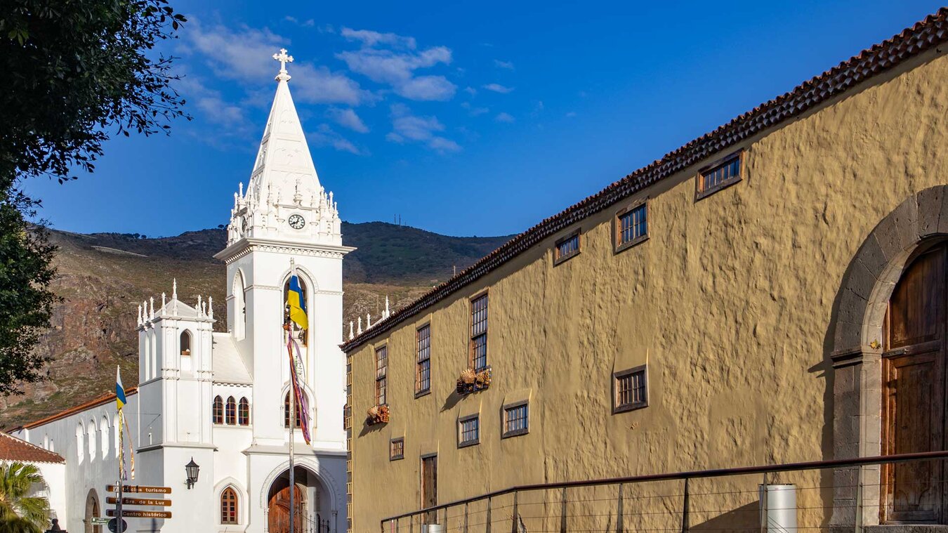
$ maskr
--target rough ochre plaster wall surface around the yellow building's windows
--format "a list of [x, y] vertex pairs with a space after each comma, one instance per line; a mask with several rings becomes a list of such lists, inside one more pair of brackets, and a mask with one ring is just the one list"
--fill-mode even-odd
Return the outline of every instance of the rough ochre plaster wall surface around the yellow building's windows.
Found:
[[[442, 405], [466, 358], [469, 294], [433, 310], [432, 395], [411, 394], [413, 327], [392, 332], [390, 404], [393, 420], [405, 418], [406, 459], [388, 464], [384, 432], [355, 439], [356, 520], [374, 527], [418, 506], [420, 440], [440, 443], [441, 501], [543, 481], [830, 458], [840, 284], [887, 213], [948, 182], [945, 79], [940, 57], [758, 138], [743, 181], [700, 201], [693, 175], [668, 180], [647, 192], [650, 238], [638, 247], [612, 253], [609, 210], [584, 221], [574, 259], [552, 267], [538, 247], [470, 287], [491, 291], [495, 377], [480, 393], [479, 446], [456, 449], [456, 416]], [[645, 357], [649, 407], [612, 415], [611, 372]], [[372, 358], [368, 347], [354, 358], [356, 434]], [[534, 393], [531, 432], [501, 440], [502, 397], [522, 388]], [[400, 489], [380, 492], [379, 472]], [[792, 481], [829, 487], [833, 478]], [[808, 523], [826, 520], [817, 507], [830, 505], [828, 488], [798, 497]]]

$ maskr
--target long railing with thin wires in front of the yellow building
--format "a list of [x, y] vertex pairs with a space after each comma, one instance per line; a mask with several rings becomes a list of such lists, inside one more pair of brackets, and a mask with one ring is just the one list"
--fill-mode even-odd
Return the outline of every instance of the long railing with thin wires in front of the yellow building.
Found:
[[[884, 499], [882, 466], [939, 459], [948, 459], [948, 450], [520, 485], [385, 518], [380, 526], [383, 533], [421, 533], [428, 524], [459, 533], [782, 532], [829, 531], [832, 519], [833, 531], [858, 532], [905, 505]], [[866, 469], [874, 475], [864, 476]], [[948, 476], [948, 468], [931, 471]], [[837, 481], [840, 472], [844, 481]], [[941, 477], [920, 483], [945, 484]], [[792, 508], [768, 508], [776, 485], [793, 487]], [[792, 511], [793, 528], [775, 520], [780, 511]]]

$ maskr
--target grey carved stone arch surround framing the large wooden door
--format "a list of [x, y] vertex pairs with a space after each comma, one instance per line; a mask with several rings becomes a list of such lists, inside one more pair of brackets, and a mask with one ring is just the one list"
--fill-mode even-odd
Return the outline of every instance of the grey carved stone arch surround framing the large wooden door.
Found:
[[[907, 264], [929, 244], [948, 238], [948, 186], [912, 194], [890, 212], [856, 252], [837, 293], [831, 327], [833, 456], [866, 457], [882, 450], [882, 342], [889, 298]], [[863, 487], [862, 500], [857, 498]], [[837, 469], [833, 529], [879, 524], [879, 467]]]

